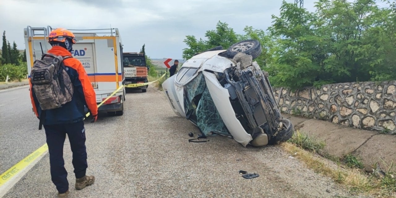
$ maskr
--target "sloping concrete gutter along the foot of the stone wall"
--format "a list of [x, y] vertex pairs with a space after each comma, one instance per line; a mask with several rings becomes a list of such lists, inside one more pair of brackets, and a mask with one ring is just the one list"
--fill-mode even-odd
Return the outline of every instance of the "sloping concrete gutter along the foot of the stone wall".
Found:
[[[300, 133], [325, 141], [324, 149], [329, 154], [339, 158], [346, 154], [353, 154], [360, 158], [366, 171], [371, 171], [376, 162], [383, 169], [388, 168], [383, 161], [388, 165], [392, 161], [396, 162], [396, 135], [355, 129], [323, 120], [294, 117], [289, 114], [283, 116], [289, 118]], [[393, 169], [396, 171], [396, 167]]]

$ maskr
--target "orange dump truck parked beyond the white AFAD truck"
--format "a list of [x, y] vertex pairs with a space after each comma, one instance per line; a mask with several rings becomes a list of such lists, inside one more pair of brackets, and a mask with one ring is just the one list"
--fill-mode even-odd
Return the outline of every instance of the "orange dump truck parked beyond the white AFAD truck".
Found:
[[[148, 69], [146, 65], [146, 57], [143, 53], [125, 52], [124, 56], [124, 77], [123, 84], [137, 84], [148, 82]], [[142, 89], [142, 92], [147, 91], [146, 86], [139, 86], [136, 88], [126, 89]]]

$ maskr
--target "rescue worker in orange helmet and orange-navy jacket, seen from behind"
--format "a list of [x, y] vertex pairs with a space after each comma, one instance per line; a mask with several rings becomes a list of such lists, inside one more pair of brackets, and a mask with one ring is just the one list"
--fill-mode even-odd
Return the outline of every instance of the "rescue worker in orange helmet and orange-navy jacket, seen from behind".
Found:
[[[55, 29], [48, 36], [48, 42], [52, 48], [48, 53], [54, 55], [72, 56], [72, 45], [76, 43], [76, 38], [72, 32], [66, 29]], [[84, 105], [93, 116], [91, 122], [97, 120], [97, 104], [95, 91], [89, 81], [81, 62], [75, 58], [64, 59], [65, 70], [69, 74], [74, 86], [74, 94], [69, 103], [57, 109], [46, 110], [44, 118], [44, 129], [49, 151], [49, 164], [51, 167], [51, 180], [58, 190], [58, 197], [67, 197], [69, 194], [69, 182], [67, 181], [67, 171], [63, 159], [63, 145], [66, 134], [70, 141], [73, 153], [72, 164], [76, 176], [77, 190], [92, 185], [95, 182], [94, 176], [87, 176], [87, 152], [86, 135], [84, 128]], [[40, 119], [42, 110], [30, 84], [30, 97], [33, 110]]]

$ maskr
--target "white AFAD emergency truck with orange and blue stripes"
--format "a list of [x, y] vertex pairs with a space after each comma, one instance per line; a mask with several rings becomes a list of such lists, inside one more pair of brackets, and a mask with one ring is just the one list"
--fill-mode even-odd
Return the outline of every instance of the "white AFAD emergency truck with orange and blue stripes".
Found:
[[[24, 29], [28, 74], [33, 62], [40, 59], [43, 53], [51, 49], [48, 35], [53, 28], [30, 27]], [[88, 31], [102, 31], [88, 32]], [[107, 30], [108, 32], [104, 32]], [[114, 30], [114, 32], [113, 32]], [[122, 42], [118, 29], [70, 30], [76, 36], [76, 44], [71, 51], [86, 70], [89, 80], [96, 93], [96, 103], [99, 105], [124, 81], [122, 62]], [[98, 36], [98, 34], [107, 34]], [[30, 77], [30, 76], [29, 76]], [[110, 97], [98, 110], [109, 115], [124, 114], [125, 88]]]

